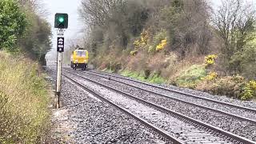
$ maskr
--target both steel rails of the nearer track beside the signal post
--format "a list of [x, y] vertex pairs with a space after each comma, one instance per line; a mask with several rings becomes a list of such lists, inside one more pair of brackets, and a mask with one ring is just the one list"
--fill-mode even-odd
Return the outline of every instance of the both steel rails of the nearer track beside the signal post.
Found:
[[[102, 87], [105, 87], [106, 89], [108, 89], [108, 90], [112, 90], [112, 91], [114, 91], [114, 92], [116, 92], [116, 93], [118, 93], [118, 94], [122, 94], [122, 95], [124, 95], [124, 96], [126, 96], [127, 98], [131, 98], [131, 99], [134, 99], [134, 100], [136, 100], [136, 101], [138, 101], [138, 102], [141, 102], [141, 103], [144, 103], [144, 104], [146, 104], [147, 106], [151, 106], [151, 107], [154, 107], [154, 109], [156, 109], [156, 110], [161, 110], [161, 111], [163, 111], [164, 113], [166, 113], [166, 114], [170, 114], [170, 115], [172, 115], [172, 116], [174, 116], [174, 117], [177, 117], [177, 118], [179, 118], [180, 120], [182, 120], [183, 122], [187, 122], [187, 123], [190, 123], [191, 125], [193, 125], [193, 126], [195, 126], [195, 127], [197, 127], [197, 128], [199, 128], [199, 129], [202, 129], [202, 130], [204, 130], [204, 131], [208, 131], [210, 134], [214, 134], [214, 136], [218, 136], [218, 137], [221, 137], [221, 138], [224, 138], [225, 140], [226, 140], [226, 142], [234, 142], [234, 143], [254, 143], [253, 141], [251, 141], [251, 140], [249, 140], [249, 139], [247, 139], [247, 138], [242, 138], [241, 136], [238, 136], [238, 135], [236, 135], [236, 134], [232, 134], [232, 133], [230, 133], [230, 132], [228, 132], [228, 131], [226, 131], [226, 130], [222, 130], [222, 129], [220, 129], [220, 128], [218, 128], [218, 127], [216, 127], [216, 126], [211, 126], [211, 125], [209, 125], [209, 124], [207, 124], [207, 123], [205, 123], [205, 122], [200, 122], [200, 121], [198, 121], [198, 120], [196, 120], [196, 119], [194, 119], [194, 118], [190, 118], [190, 117], [187, 117], [186, 115], [184, 115], [184, 114], [180, 114], [180, 113], [178, 113], [178, 112], [175, 112], [175, 111], [173, 111], [173, 110], [169, 110], [169, 109], [166, 109], [165, 107], [163, 107], [163, 106], [159, 106], [159, 105], [157, 105], [157, 104], [154, 104], [154, 103], [152, 103], [152, 102], [147, 102], [147, 101], [145, 101], [145, 100], [143, 100], [142, 98], [137, 98], [137, 97], [134, 97], [133, 95], [131, 95], [131, 94], [127, 94], [127, 93], [125, 93], [125, 92], [122, 92], [121, 90], [117, 90], [117, 89], [114, 89], [113, 87], [111, 87], [111, 86], [107, 86], [107, 85], [105, 85], [105, 84], [102, 84], [102, 83], [100, 83], [100, 82], [96, 82], [96, 81], [94, 81], [94, 80], [92, 80], [92, 79], [90, 79], [90, 78], [86, 78], [86, 77], [84, 77], [84, 76], [82, 76], [81, 74], [74, 74], [73, 72], [70, 72], [70, 71], [67, 71], [67, 70], [64, 70], [66, 73], [68, 73], [68, 74], [72, 74], [73, 76], [75, 76], [75, 77], [79, 77], [79, 78], [82, 78], [82, 79], [85, 79], [86, 81], [88, 81], [88, 82], [92, 82], [92, 83], [94, 83], [94, 84], [97, 84], [98, 86], [102, 86]], [[69, 78], [67, 75], [65, 75], [64, 74], [64, 76], [66, 77], [66, 78]], [[74, 82], [74, 83], [76, 83], [78, 86], [81, 86], [82, 88], [84, 88], [84, 89], [87, 89], [88, 90], [88, 88], [86, 88], [86, 86], [83, 86], [82, 84], [79, 84], [78, 82], [76, 82], [74, 79], [72, 79], [72, 78], [69, 78], [70, 79], [70, 81], [72, 81], [72, 82]], [[89, 90], [90, 92], [94, 92], [94, 90]], [[97, 95], [97, 94], [96, 94]], [[99, 95], [98, 95], [98, 97], [99, 97]], [[105, 100], [104, 100], [105, 102], [108, 102], [108, 100], [105, 98]], [[113, 102], [109, 102], [110, 104], [111, 103], [113, 103]], [[114, 103], [113, 103], [114, 104]], [[111, 104], [111, 105], [113, 105], [113, 104]], [[115, 106], [116, 104], [114, 104], [113, 106]], [[121, 107], [119, 106], [119, 110], [121, 110], [120, 109]], [[124, 111], [124, 109], [122, 109], [122, 111]], [[124, 111], [125, 112], [125, 111]], [[125, 112], [125, 113], [127, 113], [127, 111]], [[128, 112], [129, 113], [129, 112]], [[134, 114], [131, 114], [130, 115], [131, 117], [136, 117]], [[135, 118], [135, 119], [138, 119], [138, 118]], [[138, 120], [138, 121], [141, 121], [141, 120]], [[142, 120], [143, 121], [143, 120]], [[145, 121], [144, 121], [145, 122]], [[142, 122], [143, 123], [143, 122]], [[149, 126], [149, 124], [150, 123], [148, 123], [148, 124], [146, 124], [147, 126]], [[150, 126], [149, 126], [150, 127]], [[155, 130], [155, 131], [158, 131], [159, 132], [159, 129], [158, 128], [156, 128], [156, 127], [154, 127], [154, 128], [151, 128], [152, 130]], [[161, 131], [161, 130], [160, 130]], [[167, 135], [166, 135], [166, 132], [160, 132], [160, 133], [162, 133], [161, 135], [163, 135], [165, 138], [167, 137], [167, 139], [169, 139], [170, 140], [170, 142], [180, 142], [180, 141], [178, 141], [177, 140], [177, 138], [174, 138], [174, 137], [171, 137], [170, 135], [170, 137], [168, 137]], [[177, 141], [176, 141], [176, 140]]]

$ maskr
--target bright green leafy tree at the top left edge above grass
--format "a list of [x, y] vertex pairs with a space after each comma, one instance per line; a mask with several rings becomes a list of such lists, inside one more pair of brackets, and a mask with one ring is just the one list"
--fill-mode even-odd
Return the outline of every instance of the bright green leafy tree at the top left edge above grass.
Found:
[[26, 30], [26, 16], [14, 0], [0, 1], [0, 50], [17, 50], [17, 39]]

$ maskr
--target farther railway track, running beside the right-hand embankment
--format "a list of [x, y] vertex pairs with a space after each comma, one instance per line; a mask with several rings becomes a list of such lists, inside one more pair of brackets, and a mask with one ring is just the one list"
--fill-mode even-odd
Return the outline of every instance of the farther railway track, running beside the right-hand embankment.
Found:
[[[108, 78], [108, 79], [110, 79], [114, 82], [119, 82], [119, 83], [122, 83], [124, 85], [134, 87], [138, 90], [144, 90], [144, 91], [149, 92], [151, 94], [157, 94], [159, 96], [162, 96], [162, 97], [165, 97], [165, 98], [170, 98], [170, 99], [173, 99], [173, 100], [178, 101], [178, 102], [184, 102], [184, 103], [189, 104], [191, 106], [198, 106], [198, 107], [201, 107], [201, 108], [206, 109], [206, 110], [212, 110], [212, 111], [215, 111], [215, 112], [218, 112], [218, 113], [221, 113], [221, 114], [226, 114], [226, 115], [229, 115], [231, 117], [238, 118], [242, 121], [252, 122], [252, 123], [256, 124], [256, 120], [255, 120], [256, 117], [246, 118], [243, 115], [234, 114], [234, 110], [230, 110], [230, 112], [226, 112], [226, 111], [223, 111], [223, 110], [214, 109], [210, 106], [202, 106], [202, 105], [200, 105], [196, 102], [197, 102], [198, 99], [202, 99], [205, 102], [214, 102], [214, 103], [217, 103], [221, 106], [226, 106], [226, 107], [229, 106], [229, 107], [235, 108], [236, 110], [249, 111], [251, 113], [250, 117], [253, 116], [253, 115], [256, 116], [256, 110], [252, 109], [252, 108], [249, 108], [249, 107], [246, 107], [246, 106], [238, 106], [238, 105], [234, 105], [234, 104], [227, 103], [227, 102], [220, 102], [220, 101], [210, 99], [210, 98], [202, 98], [202, 97], [199, 97], [199, 96], [194, 95], [194, 94], [188, 94], [188, 93], [184, 93], [184, 92], [178, 91], [178, 90], [170, 90], [170, 89], [166, 89], [166, 88], [161, 87], [161, 86], [154, 86], [154, 85], [151, 85], [151, 84], [146, 83], [146, 82], [139, 82], [137, 80], [133, 80], [133, 79], [129, 79], [129, 78], [123, 78], [123, 77], [119, 77], [119, 76], [115, 76], [115, 75], [103, 74], [103, 73], [98, 73], [98, 72], [85, 72], [85, 73], [90, 74], [90, 75], [94, 75], [94, 76], [97, 76], [97, 77], [101, 77], [101, 78]], [[192, 97], [192, 98], [194, 98], [194, 100], [188, 101], [188, 100], [184, 100], [184, 99], [180, 99], [180, 98], [171, 97], [170, 94], [162, 94], [161, 92], [158, 92], [158, 91], [155, 91], [155, 90], [150, 90], [150, 88], [149, 89], [142, 88], [141, 86], [136, 86], [134, 84], [130, 84], [129, 82], [122, 82], [122, 81], [120, 81], [118, 79], [115, 79], [115, 78], [121, 78], [121, 79], [125, 79], [127, 81], [137, 82], [137, 83], [140, 83], [140, 84], [143, 84], [143, 85], [146, 85], [146, 86], [151, 86], [151, 87], [154, 87], [154, 88], [158, 88], [158, 89], [161, 89], [161, 90], [167, 90], [167, 91], [172, 92], [172, 93], [182, 94], [183, 96], [186, 96], [186, 97]], [[243, 114], [243, 113], [240, 113], [240, 114]]]

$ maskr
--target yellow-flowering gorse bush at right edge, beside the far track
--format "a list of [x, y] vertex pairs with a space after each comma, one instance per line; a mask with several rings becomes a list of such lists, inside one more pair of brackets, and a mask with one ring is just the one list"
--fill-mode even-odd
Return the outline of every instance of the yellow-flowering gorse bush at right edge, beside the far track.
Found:
[[247, 82], [242, 92], [241, 99], [248, 100], [255, 97], [256, 97], [256, 81]]

